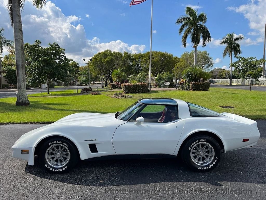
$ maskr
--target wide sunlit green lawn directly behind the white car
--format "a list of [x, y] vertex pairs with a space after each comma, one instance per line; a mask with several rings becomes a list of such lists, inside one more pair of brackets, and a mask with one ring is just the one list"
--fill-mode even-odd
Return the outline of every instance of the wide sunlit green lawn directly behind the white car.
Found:
[[111, 98], [113, 94], [114, 91], [102, 91], [101, 95], [29, 97], [30, 106], [25, 107], [15, 106], [16, 98], [3, 98], [0, 99], [0, 123], [50, 123], [78, 112], [112, 113], [146, 97], [178, 98], [219, 113], [232, 111], [219, 106], [234, 106], [235, 114], [250, 119], [266, 119], [266, 92], [263, 91], [221, 88], [211, 88], [209, 91], [168, 90], [132, 94], [133, 98], [130, 99]]

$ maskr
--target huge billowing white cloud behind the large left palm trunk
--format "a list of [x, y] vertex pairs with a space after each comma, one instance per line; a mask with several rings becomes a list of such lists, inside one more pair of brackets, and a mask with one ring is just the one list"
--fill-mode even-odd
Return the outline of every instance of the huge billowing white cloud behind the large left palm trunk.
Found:
[[[0, 11], [4, 16], [2, 18], [1, 15], [1, 26], [5, 28], [7, 39], [13, 39], [10, 19], [3, 4], [3, 0], [0, 0]], [[75, 15], [65, 16], [51, 1], [47, 1], [41, 10], [35, 9], [32, 3], [27, 1], [22, 11], [24, 42], [34, 43], [35, 40], [40, 39], [43, 46], [57, 42], [65, 49], [68, 58], [79, 63], [83, 63], [82, 58], [90, 58], [95, 53], [106, 49], [139, 53], [146, 48], [145, 45], [128, 45], [121, 40], [102, 43], [98, 37], [86, 38], [84, 26], [79, 24], [80, 19]]]

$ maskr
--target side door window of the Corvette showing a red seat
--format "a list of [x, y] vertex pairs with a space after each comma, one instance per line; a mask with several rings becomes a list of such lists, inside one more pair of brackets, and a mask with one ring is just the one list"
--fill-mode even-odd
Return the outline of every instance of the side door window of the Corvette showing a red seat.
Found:
[[166, 123], [178, 119], [177, 106], [147, 105], [134, 119], [143, 117], [144, 123]]

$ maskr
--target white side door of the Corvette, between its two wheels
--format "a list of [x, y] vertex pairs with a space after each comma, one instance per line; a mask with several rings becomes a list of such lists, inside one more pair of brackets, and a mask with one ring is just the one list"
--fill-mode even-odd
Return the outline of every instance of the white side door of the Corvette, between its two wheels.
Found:
[[[144, 118], [143, 123], [135, 125], [134, 120], [131, 120], [115, 130], [112, 142], [116, 154], [172, 155], [174, 153], [184, 127], [184, 121], [175, 119], [166, 123], [158, 123], [156, 114], [159, 113], [158, 108], [151, 106], [156, 105], [149, 105], [148, 109], [153, 111], [150, 116], [157, 116], [155, 121], [151, 122], [151, 118], [148, 118], [148, 122], [145, 122]], [[138, 113], [138, 117], [141, 115], [147, 116], [147, 112]]]

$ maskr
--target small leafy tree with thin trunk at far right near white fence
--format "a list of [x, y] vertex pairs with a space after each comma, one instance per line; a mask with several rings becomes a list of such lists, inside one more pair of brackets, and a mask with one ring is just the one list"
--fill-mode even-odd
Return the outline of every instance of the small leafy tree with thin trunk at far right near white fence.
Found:
[[262, 68], [260, 67], [265, 60], [257, 60], [256, 57], [237, 57], [238, 61], [232, 63], [232, 67], [235, 67], [235, 70], [238, 72], [239, 77], [243, 79], [249, 79], [250, 81], [250, 91], [251, 91], [251, 79], [259, 81], [260, 76], [262, 75]]

